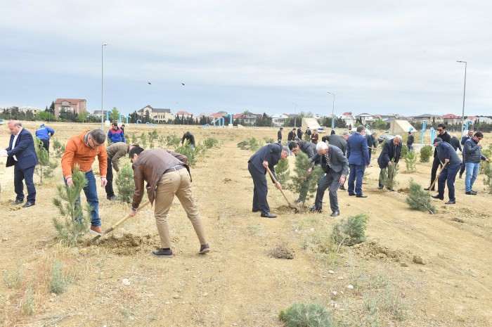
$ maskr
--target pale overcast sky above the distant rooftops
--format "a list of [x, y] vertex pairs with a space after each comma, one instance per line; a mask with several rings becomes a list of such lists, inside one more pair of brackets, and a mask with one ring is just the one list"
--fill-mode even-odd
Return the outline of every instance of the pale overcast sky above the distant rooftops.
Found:
[[0, 108], [100, 109], [107, 43], [105, 110], [461, 115], [465, 60], [492, 115], [492, 2], [401, 2], [2, 1]]

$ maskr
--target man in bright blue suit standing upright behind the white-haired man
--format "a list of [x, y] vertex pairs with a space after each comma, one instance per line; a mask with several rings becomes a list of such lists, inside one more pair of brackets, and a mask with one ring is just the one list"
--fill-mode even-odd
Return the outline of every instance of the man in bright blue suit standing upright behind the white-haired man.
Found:
[[[349, 159], [349, 195], [357, 195], [357, 198], [367, 198], [362, 193], [362, 179], [365, 167], [370, 164], [368, 141], [364, 137], [365, 128], [359, 125], [356, 134], [347, 139], [347, 159]], [[355, 183], [355, 193], [354, 193]]]

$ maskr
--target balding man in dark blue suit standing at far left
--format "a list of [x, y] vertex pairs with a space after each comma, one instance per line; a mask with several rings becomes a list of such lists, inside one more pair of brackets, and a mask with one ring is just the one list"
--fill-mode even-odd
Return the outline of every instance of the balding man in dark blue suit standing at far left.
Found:
[[6, 167], [14, 166], [13, 181], [15, 189], [14, 205], [24, 202], [24, 184], [27, 187], [27, 202], [22, 207], [32, 207], [36, 204], [36, 188], [34, 187], [34, 167], [37, 165], [36, 150], [34, 150], [34, 139], [27, 129], [22, 128], [18, 120], [8, 123], [11, 130], [11, 140], [8, 148], [2, 151], [2, 157], [7, 158]]

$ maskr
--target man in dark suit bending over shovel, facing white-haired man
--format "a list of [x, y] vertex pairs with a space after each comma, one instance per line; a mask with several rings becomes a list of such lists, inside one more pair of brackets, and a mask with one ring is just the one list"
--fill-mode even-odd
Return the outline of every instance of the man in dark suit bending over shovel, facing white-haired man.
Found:
[[[247, 169], [250, 171], [253, 179], [253, 212], [261, 211], [261, 217], [264, 218], [276, 218], [277, 216], [270, 213], [270, 207], [266, 200], [266, 194], [268, 193], [268, 186], [266, 186], [266, 167], [269, 167], [273, 176], [275, 177], [275, 165], [278, 164], [280, 159], [287, 158], [289, 155], [289, 148], [282, 146], [279, 143], [267, 144], [254, 155], [251, 156], [247, 162]], [[275, 177], [277, 178], [277, 177]], [[273, 180], [272, 180], [273, 181]], [[280, 183], [276, 183], [276, 188], [280, 189], [282, 186]]]

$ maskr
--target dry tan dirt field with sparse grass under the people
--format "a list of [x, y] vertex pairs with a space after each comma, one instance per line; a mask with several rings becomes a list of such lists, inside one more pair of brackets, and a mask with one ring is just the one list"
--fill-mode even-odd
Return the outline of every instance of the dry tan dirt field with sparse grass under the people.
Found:
[[[86, 129], [50, 126], [63, 143]], [[34, 134], [39, 124], [26, 127]], [[10, 134], [6, 124], [0, 129], [0, 146], [6, 148]], [[151, 130], [131, 126], [126, 132]], [[198, 238], [176, 199], [169, 214], [172, 259], [150, 255], [159, 247], [150, 207], [96, 244], [86, 235], [77, 248], [61, 245], [52, 222], [59, 215], [52, 199], [63, 184], [60, 167], [55, 178], [37, 186], [36, 205], [24, 209], [12, 204], [13, 168], [6, 169], [1, 158], [0, 326], [284, 326], [278, 313], [294, 302], [325, 305], [338, 326], [492, 326], [492, 195], [483, 176], [474, 196], [465, 195], [465, 179], [457, 179], [456, 205], [434, 200], [439, 212], [431, 215], [405, 202], [408, 179], [427, 186], [431, 163], [417, 161], [417, 172], [408, 174], [402, 162], [397, 191], [379, 191], [373, 155], [363, 185], [368, 198], [339, 191], [336, 219], [329, 217], [328, 194], [323, 213], [294, 214], [273, 184], [268, 203], [279, 217], [262, 219], [251, 212], [252, 152], [236, 144], [252, 136], [276, 139], [277, 130], [190, 130], [198, 142], [220, 141], [191, 168], [212, 249], [205, 256], [198, 255]], [[181, 137], [186, 129], [157, 131]], [[486, 134], [484, 141], [491, 139]], [[292, 169], [294, 157], [288, 160]], [[105, 200], [101, 187], [98, 192], [107, 229], [129, 205]], [[328, 251], [324, 244], [335, 222], [359, 213], [370, 217], [368, 241], [339, 254]], [[74, 277], [60, 295], [48, 291], [56, 260]], [[19, 282], [9, 287], [16, 275]]]

